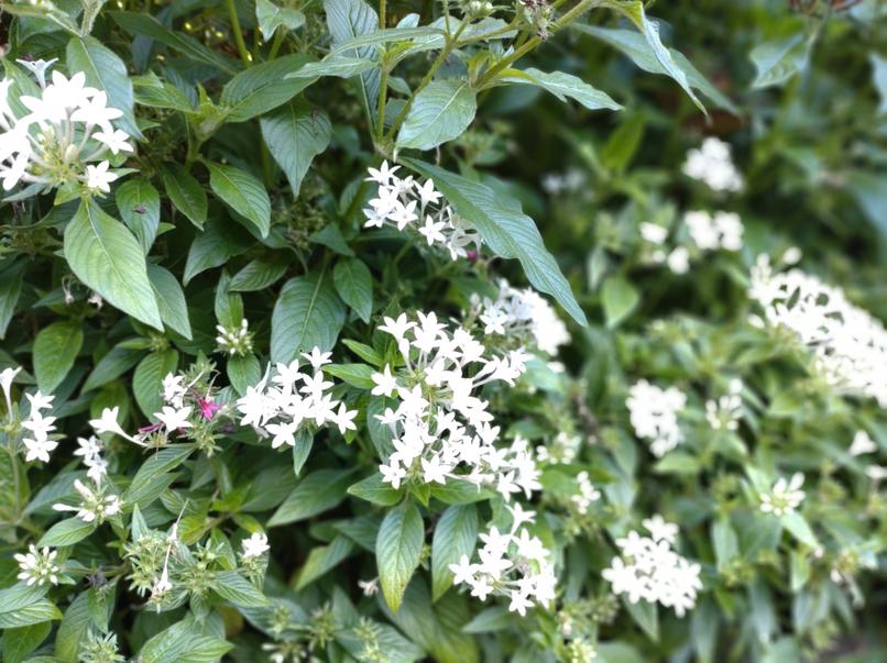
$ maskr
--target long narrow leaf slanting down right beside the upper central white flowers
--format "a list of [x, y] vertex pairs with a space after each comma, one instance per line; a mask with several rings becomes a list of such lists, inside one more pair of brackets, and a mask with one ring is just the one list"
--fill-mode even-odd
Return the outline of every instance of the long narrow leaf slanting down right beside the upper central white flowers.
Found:
[[551, 295], [577, 322], [588, 324], [557, 261], [546, 251], [536, 224], [518, 203], [503, 200], [489, 187], [442, 168], [416, 159], [403, 161], [423, 176], [434, 179], [456, 212], [474, 224], [493, 253], [521, 261], [529, 283], [537, 290]]

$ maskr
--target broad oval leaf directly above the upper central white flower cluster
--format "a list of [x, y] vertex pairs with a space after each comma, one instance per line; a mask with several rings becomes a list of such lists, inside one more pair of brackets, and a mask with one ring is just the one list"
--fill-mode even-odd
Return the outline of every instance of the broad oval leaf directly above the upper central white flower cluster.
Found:
[[413, 100], [401, 131], [399, 147], [431, 150], [459, 137], [474, 120], [478, 101], [468, 81], [432, 80]]

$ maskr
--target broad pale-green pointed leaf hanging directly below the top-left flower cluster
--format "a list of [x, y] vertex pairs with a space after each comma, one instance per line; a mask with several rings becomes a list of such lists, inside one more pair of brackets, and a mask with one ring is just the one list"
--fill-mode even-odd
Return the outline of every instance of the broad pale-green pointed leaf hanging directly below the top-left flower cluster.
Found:
[[77, 278], [111, 306], [163, 330], [144, 253], [125, 225], [84, 201], [65, 229], [64, 247]]

